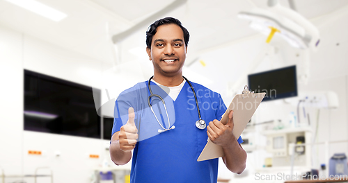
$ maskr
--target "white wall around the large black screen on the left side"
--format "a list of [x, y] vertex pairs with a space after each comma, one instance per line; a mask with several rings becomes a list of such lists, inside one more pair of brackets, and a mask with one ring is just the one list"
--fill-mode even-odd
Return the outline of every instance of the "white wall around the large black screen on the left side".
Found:
[[[102, 67], [99, 60], [0, 26], [0, 168], [6, 175], [33, 175], [35, 168], [49, 167], [54, 182], [91, 182], [93, 170], [101, 166], [104, 158], [109, 159], [105, 150], [109, 141], [24, 131], [23, 73], [29, 69], [99, 88], [96, 78]], [[39, 150], [42, 155], [29, 155], [29, 150]], [[90, 154], [100, 157], [92, 159], [88, 157]], [[49, 174], [49, 171], [40, 169], [38, 173]], [[6, 178], [6, 182], [15, 180], [20, 178]], [[25, 180], [33, 182], [33, 178]]]

